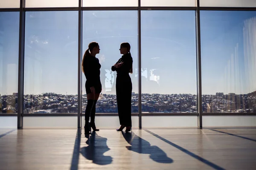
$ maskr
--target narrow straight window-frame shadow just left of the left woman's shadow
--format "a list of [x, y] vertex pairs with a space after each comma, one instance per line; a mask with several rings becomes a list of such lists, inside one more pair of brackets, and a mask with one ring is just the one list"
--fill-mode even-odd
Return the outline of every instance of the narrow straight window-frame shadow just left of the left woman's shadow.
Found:
[[78, 170], [80, 143], [81, 143], [81, 128], [78, 128], [76, 132], [76, 141], [75, 141], [70, 170]]

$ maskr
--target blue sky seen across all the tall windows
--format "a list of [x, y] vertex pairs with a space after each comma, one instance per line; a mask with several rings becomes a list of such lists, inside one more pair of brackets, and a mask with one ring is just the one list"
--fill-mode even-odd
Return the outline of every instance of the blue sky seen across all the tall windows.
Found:
[[[196, 94], [195, 11], [142, 11], [142, 92]], [[203, 94], [256, 90], [256, 11], [201, 11]], [[0, 94], [17, 92], [18, 12], [0, 12]], [[250, 30], [250, 42], [243, 30]], [[83, 51], [99, 42], [104, 93], [115, 94], [121, 42], [131, 44], [137, 93], [137, 11], [84, 11]], [[250, 36], [249, 36], [250, 37]], [[245, 45], [246, 44], [246, 45]], [[26, 12], [24, 94], [77, 94], [78, 12]], [[246, 46], [246, 48], [244, 48]], [[83, 91], [85, 77], [83, 75]]]

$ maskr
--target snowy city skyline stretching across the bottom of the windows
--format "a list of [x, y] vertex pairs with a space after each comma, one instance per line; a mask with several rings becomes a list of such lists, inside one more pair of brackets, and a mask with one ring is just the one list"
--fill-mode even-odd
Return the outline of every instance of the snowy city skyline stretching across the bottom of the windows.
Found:
[[[0, 113], [17, 113], [17, 93], [0, 96]], [[82, 95], [84, 113], [87, 100]], [[139, 111], [138, 95], [131, 98], [131, 111]], [[197, 95], [192, 94], [142, 94], [142, 113], [197, 113]], [[202, 111], [205, 113], [253, 113], [256, 110], [256, 91], [236, 95], [216, 93], [202, 95]], [[97, 113], [117, 113], [116, 95], [102, 94], [96, 106]], [[46, 93], [24, 95], [23, 113], [77, 113], [78, 96]]]

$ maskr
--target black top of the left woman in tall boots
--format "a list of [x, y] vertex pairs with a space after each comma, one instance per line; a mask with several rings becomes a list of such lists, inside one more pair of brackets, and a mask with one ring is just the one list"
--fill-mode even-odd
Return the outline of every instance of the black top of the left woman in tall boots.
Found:
[[93, 56], [86, 56], [83, 62], [84, 75], [86, 83], [89, 87], [100, 84], [100, 68], [99, 59]]

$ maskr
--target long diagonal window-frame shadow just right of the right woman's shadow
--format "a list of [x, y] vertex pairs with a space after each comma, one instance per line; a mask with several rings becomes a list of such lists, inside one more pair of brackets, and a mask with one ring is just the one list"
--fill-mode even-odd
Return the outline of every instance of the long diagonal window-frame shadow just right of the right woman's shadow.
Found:
[[150, 133], [151, 135], [157, 137], [158, 139], [161, 139], [162, 141], [164, 141], [164, 142], [166, 142], [166, 143], [172, 145], [173, 147], [176, 147], [176, 148], [179, 149], [180, 151], [182, 151], [182, 152], [188, 154], [189, 156], [192, 156], [193, 158], [197, 159], [198, 161], [201, 161], [201, 162], [203, 162], [204, 164], [209, 165], [210, 167], [214, 168], [215, 170], [224, 170], [224, 168], [222, 168], [222, 167], [220, 167], [220, 166], [218, 166], [218, 165], [216, 165], [216, 164], [214, 164], [214, 163], [212, 163], [212, 162], [210, 162], [210, 161], [208, 161], [208, 160], [206, 160], [206, 159], [204, 159], [204, 158], [202, 158], [202, 157], [196, 155], [195, 153], [192, 153], [192, 152], [190, 152], [189, 150], [186, 150], [185, 148], [180, 147], [179, 145], [174, 144], [174, 143], [170, 142], [169, 140], [164, 139], [163, 137], [161, 137], [161, 136], [159, 136], [159, 135], [157, 135], [157, 134], [155, 134], [155, 133], [153, 133], [153, 132], [151, 132], [151, 131], [149, 131], [149, 130], [146, 130], [146, 129], [144, 129], [144, 130], [145, 130], [146, 132]]

